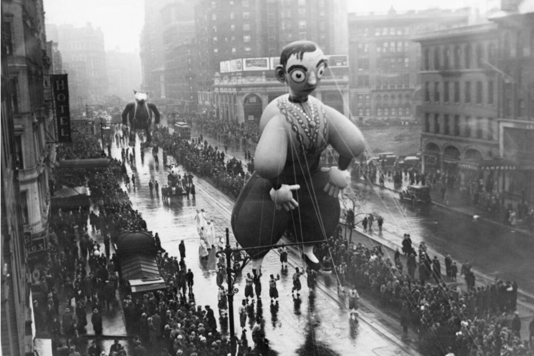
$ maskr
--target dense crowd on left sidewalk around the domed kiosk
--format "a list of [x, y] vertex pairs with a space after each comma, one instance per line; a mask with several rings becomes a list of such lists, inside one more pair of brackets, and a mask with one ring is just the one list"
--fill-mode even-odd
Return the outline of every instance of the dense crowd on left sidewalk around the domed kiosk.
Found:
[[[58, 159], [100, 156], [98, 141], [93, 138], [63, 147]], [[36, 327], [39, 332], [49, 334], [53, 350], [60, 355], [75, 354], [78, 350], [88, 350], [90, 355], [101, 352], [126, 355], [118, 340], [108, 353], [100, 350], [96, 339], [88, 345], [84, 336], [88, 331], [89, 313], [92, 313], [90, 320], [98, 337], [103, 333], [102, 314], [119, 303], [116, 300], [117, 258], [115, 254], [109, 256], [110, 243], [124, 231], [147, 229], [146, 221], [132, 208], [128, 194], [119, 185], [122, 172], [122, 162], [114, 159], [107, 168], [69, 171], [69, 177], [87, 183], [93, 207], [97, 209], [90, 211], [88, 205], [54, 211], [46, 257], [34, 266], [33, 280], [42, 291], [34, 298]], [[60, 177], [55, 178], [59, 180]], [[97, 236], [103, 236], [104, 246], [90, 238], [88, 220], [89, 228]], [[154, 240], [164, 251], [157, 233]], [[197, 307], [192, 293], [188, 300], [185, 288], [177, 288], [185, 273], [184, 260], [178, 264], [176, 258], [164, 252], [156, 260], [165, 276], [166, 290], [133, 299], [128, 295], [123, 302], [128, 331], [139, 335], [133, 341], [133, 354], [226, 355], [230, 343], [217, 331], [213, 310], [209, 306], [204, 310]], [[177, 268], [171, 267], [175, 265], [172, 261]], [[60, 310], [60, 302], [66, 304], [64, 310]]]

